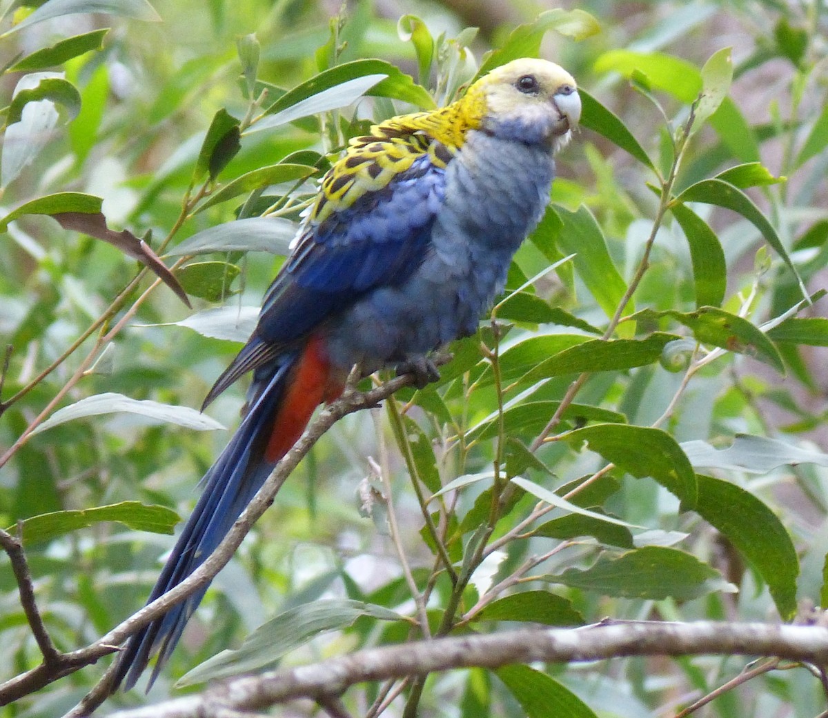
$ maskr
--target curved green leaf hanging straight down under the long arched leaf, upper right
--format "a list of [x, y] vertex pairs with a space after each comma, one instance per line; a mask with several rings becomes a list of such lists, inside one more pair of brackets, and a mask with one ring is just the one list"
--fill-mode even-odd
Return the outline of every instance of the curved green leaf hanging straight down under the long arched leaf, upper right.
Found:
[[719, 237], [686, 204], [674, 204], [671, 211], [690, 247], [696, 306], [718, 307], [727, 290], [727, 262]]

